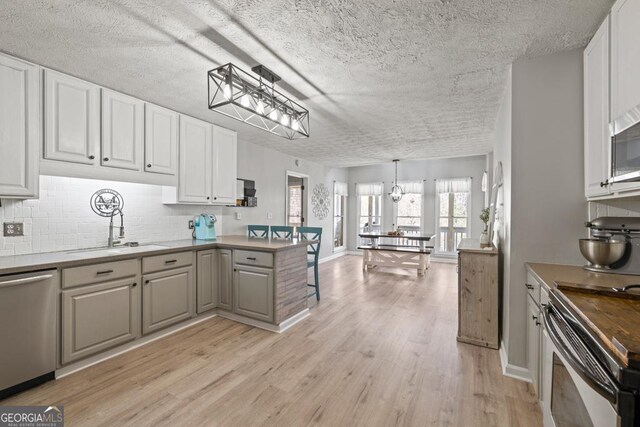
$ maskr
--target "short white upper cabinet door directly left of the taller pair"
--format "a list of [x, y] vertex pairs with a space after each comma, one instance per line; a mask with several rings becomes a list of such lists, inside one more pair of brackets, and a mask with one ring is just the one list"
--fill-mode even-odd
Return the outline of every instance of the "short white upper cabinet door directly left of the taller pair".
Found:
[[178, 167], [178, 113], [145, 104], [144, 170], [175, 175]]

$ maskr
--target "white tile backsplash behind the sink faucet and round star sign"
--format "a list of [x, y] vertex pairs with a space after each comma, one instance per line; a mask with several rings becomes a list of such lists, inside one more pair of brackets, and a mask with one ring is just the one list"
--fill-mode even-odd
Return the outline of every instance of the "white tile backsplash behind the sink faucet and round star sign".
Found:
[[[220, 233], [221, 207], [164, 205], [161, 186], [41, 176], [39, 199], [2, 199], [0, 223], [24, 222], [25, 235], [0, 236], [0, 256], [105, 246], [109, 219], [89, 206], [91, 195], [101, 188], [112, 188], [124, 198], [126, 241], [188, 239], [188, 220], [203, 212], [218, 217]], [[119, 226], [120, 218], [114, 223]]]

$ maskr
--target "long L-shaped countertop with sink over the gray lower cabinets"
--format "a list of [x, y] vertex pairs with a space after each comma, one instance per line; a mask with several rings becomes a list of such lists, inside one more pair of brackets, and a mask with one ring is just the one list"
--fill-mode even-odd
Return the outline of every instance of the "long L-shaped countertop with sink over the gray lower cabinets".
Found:
[[[105, 255], [95, 249], [75, 249], [63, 252], [44, 252], [28, 255], [13, 255], [0, 257], [0, 275], [22, 273], [37, 270], [50, 270], [61, 267], [73, 267], [79, 265], [95, 264], [98, 262], [118, 261], [123, 259], [138, 258], [150, 255], [162, 255], [178, 251], [204, 250], [213, 248], [246, 249], [265, 252], [276, 252], [299, 246], [307, 246], [314, 241], [307, 240], [270, 240], [249, 238], [246, 236], [218, 236], [216, 240], [173, 240], [167, 242], [144, 243], [129, 253]], [[145, 246], [163, 246], [163, 248], [149, 248]], [[116, 248], [123, 248], [117, 246]], [[108, 250], [110, 248], [102, 248]], [[92, 252], [95, 251], [95, 256]]]

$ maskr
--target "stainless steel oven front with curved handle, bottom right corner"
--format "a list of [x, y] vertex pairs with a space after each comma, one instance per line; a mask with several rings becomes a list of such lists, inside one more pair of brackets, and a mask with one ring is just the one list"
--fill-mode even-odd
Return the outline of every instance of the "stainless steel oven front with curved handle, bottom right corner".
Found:
[[557, 296], [550, 299], [543, 311], [545, 426], [638, 425], [637, 388], [620, 381], [624, 368]]

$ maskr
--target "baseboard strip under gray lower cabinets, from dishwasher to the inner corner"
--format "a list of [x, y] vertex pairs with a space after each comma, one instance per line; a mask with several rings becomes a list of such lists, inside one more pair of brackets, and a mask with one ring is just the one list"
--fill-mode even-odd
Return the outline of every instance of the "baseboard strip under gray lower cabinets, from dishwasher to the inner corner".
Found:
[[114, 349], [107, 350], [100, 354], [96, 354], [95, 356], [88, 357], [78, 362], [72, 362], [71, 364], [67, 366], [63, 366], [62, 368], [56, 370], [56, 379], [66, 377], [67, 375], [71, 375], [75, 372], [81, 371], [90, 366], [97, 365], [98, 363], [104, 362], [105, 360], [109, 360], [116, 356], [120, 356], [121, 354], [124, 354], [128, 351], [134, 350], [138, 347], [142, 347], [143, 345], [147, 345], [153, 341], [159, 340], [160, 338], [164, 338], [169, 335], [175, 334], [176, 332], [182, 331], [183, 329], [187, 329], [193, 325], [197, 325], [198, 323], [204, 322], [205, 320], [209, 320], [216, 316], [217, 316], [217, 313], [215, 311], [212, 311], [211, 313], [207, 313], [207, 314], [202, 314], [184, 323], [180, 323], [175, 326], [170, 326], [167, 329], [158, 331], [155, 334], [147, 335], [145, 337], [140, 337], [135, 341], [131, 341], [127, 344], [123, 344]]

